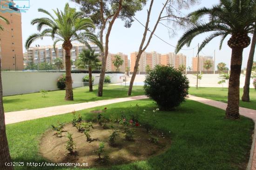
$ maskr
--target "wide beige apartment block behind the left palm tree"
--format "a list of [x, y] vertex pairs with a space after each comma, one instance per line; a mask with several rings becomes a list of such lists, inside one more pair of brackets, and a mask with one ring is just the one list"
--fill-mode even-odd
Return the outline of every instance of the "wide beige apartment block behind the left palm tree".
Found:
[[[71, 60], [74, 61], [78, 59], [79, 54], [82, 49], [87, 49], [84, 44], [76, 44], [73, 43], [73, 48], [71, 49]], [[95, 44], [90, 44], [91, 48], [95, 50], [94, 54], [100, 54], [100, 48]], [[56, 51], [56, 52], [55, 52]], [[65, 50], [62, 48], [62, 45], [56, 45], [55, 50], [52, 45], [40, 46], [36, 45], [36, 47], [30, 47], [26, 53], [24, 54], [24, 64], [37, 64], [37, 63], [54, 63], [56, 58], [61, 58], [63, 63], [65, 63]]]

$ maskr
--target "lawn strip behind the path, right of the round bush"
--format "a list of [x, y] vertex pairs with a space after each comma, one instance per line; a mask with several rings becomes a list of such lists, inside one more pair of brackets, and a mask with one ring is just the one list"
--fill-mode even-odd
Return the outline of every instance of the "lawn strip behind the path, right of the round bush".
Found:
[[[228, 88], [199, 88], [195, 87], [189, 88], [189, 94], [203, 97], [207, 99], [212, 99], [215, 101], [228, 102]], [[243, 95], [243, 88], [240, 88], [240, 99]], [[250, 102], [243, 102], [240, 100], [240, 106], [245, 108], [250, 108], [256, 110], [256, 90], [250, 88]]]

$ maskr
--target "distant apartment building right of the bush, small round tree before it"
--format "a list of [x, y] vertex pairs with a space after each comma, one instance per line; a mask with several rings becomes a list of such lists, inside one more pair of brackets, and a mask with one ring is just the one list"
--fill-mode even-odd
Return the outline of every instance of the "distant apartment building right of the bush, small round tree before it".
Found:
[[[207, 69], [205, 69], [204, 66], [204, 62], [206, 60], [210, 60], [212, 64], [214, 64], [214, 60], [212, 56], [199, 56], [199, 71], [208, 71]], [[197, 57], [193, 57], [192, 58], [192, 71], [197, 71]], [[209, 69], [209, 71], [213, 71], [214, 67], [211, 67]]]

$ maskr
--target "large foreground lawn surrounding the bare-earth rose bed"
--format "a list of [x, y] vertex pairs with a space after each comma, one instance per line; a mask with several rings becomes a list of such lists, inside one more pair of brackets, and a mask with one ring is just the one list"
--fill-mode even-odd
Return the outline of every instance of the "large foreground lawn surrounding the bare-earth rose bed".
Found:
[[[186, 101], [172, 112], [152, 110], [157, 106], [150, 100], [129, 101], [82, 110], [77, 113], [90, 120], [96, 117], [92, 110], [107, 107], [106, 117], [129, 115], [139, 105], [141, 119], [161, 132], [170, 134], [171, 147], [148, 160], [124, 165], [114, 165], [104, 170], [245, 170], [249, 160], [252, 120], [241, 116], [240, 120], [224, 119], [224, 111], [196, 101]], [[7, 138], [13, 162], [46, 161], [38, 153], [38, 143], [43, 132], [52, 124], [70, 122], [70, 113], [7, 125]], [[168, 133], [171, 131], [171, 133]], [[63, 144], [65, 145], [65, 144]], [[145, 146], [147, 147], [147, 146]], [[25, 163], [26, 164], [26, 163]], [[68, 170], [65, 167], [15, 167], [15, 170]], [[75, 169], [75, 168], [74, 168]], [[80, 170], [76, 168], [77, 170]], [[97, 168], [91, 170], [99, 170]]]

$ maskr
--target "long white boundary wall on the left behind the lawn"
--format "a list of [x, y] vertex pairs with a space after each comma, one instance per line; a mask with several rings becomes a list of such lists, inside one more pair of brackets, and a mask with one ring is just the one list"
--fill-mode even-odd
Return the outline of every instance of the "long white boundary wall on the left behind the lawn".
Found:
[[[58, 90], [57, 79], [60, 72], [2, 72], [3, 95], [26, 94], [38, 92], [41, 89]], [[72, 73], [73, 87], [81, 87], [82, 78], [87, 73]], [[100, 74], [93, 74], [94, 83], [99, 83]], [[122, 82], [124, 74], [106, 74], [111, 77], [111, 83]]]

